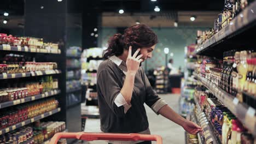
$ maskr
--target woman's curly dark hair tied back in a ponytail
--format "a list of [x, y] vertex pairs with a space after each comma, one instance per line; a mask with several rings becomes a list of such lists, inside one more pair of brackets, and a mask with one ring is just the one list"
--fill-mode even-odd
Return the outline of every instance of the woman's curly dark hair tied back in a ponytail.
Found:
[[129, 49], [129, 46], [135, 48], [150, 47], [158, 43], [158, 36], [146, 25], [134, 25], [126, 28], [124, 35], [114, 34], [108, 40], [108, 49], [103, 51], [103, 57], [120, 56], [124, 49]]

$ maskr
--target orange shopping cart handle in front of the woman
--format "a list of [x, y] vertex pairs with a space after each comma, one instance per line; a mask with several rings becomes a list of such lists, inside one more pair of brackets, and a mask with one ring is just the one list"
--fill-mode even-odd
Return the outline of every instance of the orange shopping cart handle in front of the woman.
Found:
[[60, 139], [78, 139], [86, 141], [94, 140], [113, 140], [113, 141], [156, 141], [156, 144], [162, 144], [162, 137], [159, 135], [142, 134], [117, 134], [117, 133], [57, 133], [53, 136], [50, 144], [56, 144]]

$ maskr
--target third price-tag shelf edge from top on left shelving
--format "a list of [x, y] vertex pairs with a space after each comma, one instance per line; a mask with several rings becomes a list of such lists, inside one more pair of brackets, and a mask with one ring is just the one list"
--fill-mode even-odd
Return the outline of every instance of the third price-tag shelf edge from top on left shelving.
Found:
[[32, 97], [26, 97], [23, 99], [17, 99], [17, 100], [13, 100], [13, 101], [6, 101], [4, 103], [0, 103], [0, 109], [3, 109], [5, 107], [10, 107], [10, 106], [14, 106], [14, 105], [18, 105], [18, 104], [22, 104], [22, 103], [27, 103], [29, 101], [33, 101], [33, 100], [37, 100], [37, 99], [43, 99], [46, 97], [51, 97], [53, 95], [59, 94], [61, 93], [60, 89], [55, 89], [49, 92], [45, 92], [43, 94], [38, 94], [38, 95], [34, 95]]

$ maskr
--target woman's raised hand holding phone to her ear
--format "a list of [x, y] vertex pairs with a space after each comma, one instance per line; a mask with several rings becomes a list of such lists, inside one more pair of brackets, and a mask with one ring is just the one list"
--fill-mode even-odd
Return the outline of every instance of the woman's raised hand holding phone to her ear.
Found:
[[134, 55], [132, 56], [132, 47], [129, 47], [129, 53], [128, 53], [128, 57], [126, 59], [126, 67], [127, 67], [127, 73], [133, 74], [135, 75], [138, 71], [139, 68], [139, 64], [142, 62], [142, 59], [140, 59], [143, 55], [138, 55], [138, 52], [141, 49], [137, 49], [137, 51], [134, 53]]

